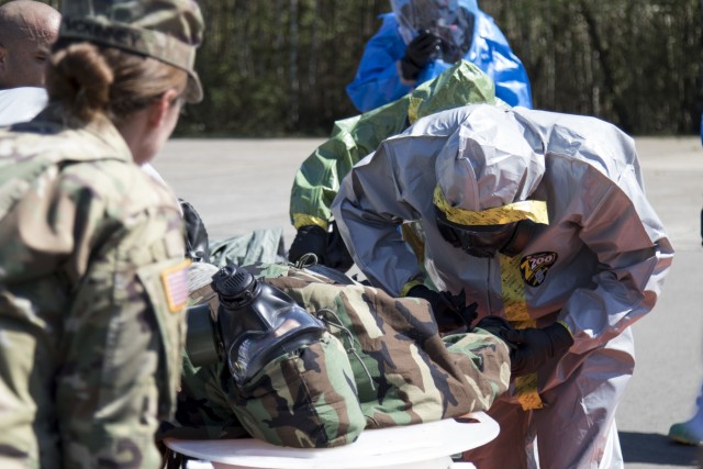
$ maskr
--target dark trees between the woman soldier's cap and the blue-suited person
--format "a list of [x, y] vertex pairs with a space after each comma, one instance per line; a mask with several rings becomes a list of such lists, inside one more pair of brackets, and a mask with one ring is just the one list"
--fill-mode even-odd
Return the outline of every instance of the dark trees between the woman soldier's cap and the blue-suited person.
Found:
[[375, 1], [248, 0], [203, 4], [205, 88], [180, 134], [325, 135], [356, 114], [344, 87], [378, 24]]

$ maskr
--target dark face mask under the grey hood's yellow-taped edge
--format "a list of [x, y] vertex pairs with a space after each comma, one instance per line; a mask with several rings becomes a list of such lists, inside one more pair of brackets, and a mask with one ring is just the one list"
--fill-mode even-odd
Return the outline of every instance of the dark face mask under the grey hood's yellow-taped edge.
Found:
[[461, 225], [447, 220], [446, 214], [435, 208], [437, 228], [442, 237], [454, 247], [479, 258], [489, 258], [496, 253], [514, 257], [533, 237], [536, 223], [532, 220], [500, 225]]

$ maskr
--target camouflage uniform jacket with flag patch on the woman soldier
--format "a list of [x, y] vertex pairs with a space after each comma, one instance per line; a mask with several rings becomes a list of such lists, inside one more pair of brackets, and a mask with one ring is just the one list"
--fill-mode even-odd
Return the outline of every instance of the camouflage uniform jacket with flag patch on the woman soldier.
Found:
[[0, 466], [160, 464], [185, 337], [174, 194], [107, 120], [0, 132]]

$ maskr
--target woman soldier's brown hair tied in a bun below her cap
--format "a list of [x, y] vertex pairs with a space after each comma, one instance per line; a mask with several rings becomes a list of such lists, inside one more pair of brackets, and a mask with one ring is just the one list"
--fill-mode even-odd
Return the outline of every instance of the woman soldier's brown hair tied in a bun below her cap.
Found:
[[54, 47], [46, 76], [52, 102], [79, 122], [104, 114], [120, 122], [174, 88], [182, 93], [188, 75], [155, 58], [83, 42]]

